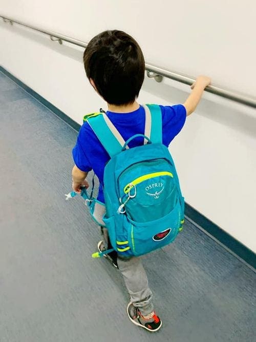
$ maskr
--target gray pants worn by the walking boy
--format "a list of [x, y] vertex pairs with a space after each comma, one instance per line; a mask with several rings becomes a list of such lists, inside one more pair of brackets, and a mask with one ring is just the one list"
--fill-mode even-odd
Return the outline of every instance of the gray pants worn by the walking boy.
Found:
[[[99, 223], [104, 215], [102, 206], [96, 203], [94, 217]], [[103, 223], [103, 222], [102, 222]], [[103, 228], [103, 242], [106, 249], [109, 246], [108, 229]], [[152, 291], [148, 287], [146, 272], [140, 257], [122, 258], [117, 257], [119, 271], [123, 275], [125, 286], [130, 294], [131, 302], [140, 309], [142, 315], [148, 315], [154, 310], [152, 304]]]

